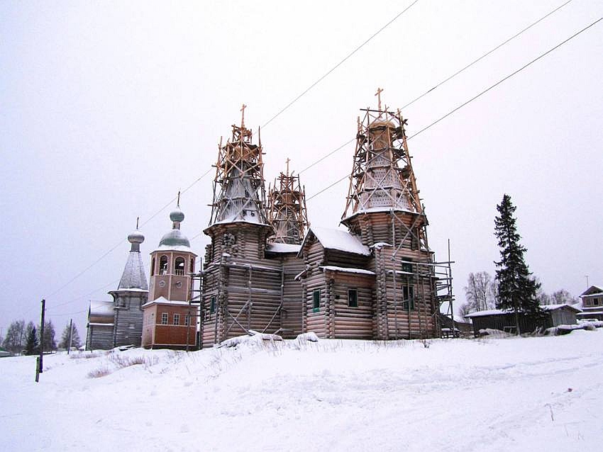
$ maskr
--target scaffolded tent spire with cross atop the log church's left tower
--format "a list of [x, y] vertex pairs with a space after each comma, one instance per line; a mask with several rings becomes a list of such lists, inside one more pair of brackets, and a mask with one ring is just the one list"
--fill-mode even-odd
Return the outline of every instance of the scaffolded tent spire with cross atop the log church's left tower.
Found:
[[245, 128], [245, 108], [241, 108], [240, 126], [232, 126], [231, 140], [223, 145], [221, 138], [218, 145], [210, 225], [234, 221], [267, 224], [262, 141], [253, 144], [252, 132]]

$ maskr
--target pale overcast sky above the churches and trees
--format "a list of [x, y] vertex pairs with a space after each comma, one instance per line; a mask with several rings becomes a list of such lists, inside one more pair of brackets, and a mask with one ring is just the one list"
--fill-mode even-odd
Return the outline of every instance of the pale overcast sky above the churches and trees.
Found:
[[[377, 87], [401, 108], [564, 2], [419, 0], [262, 128], [266, 180], [287, 157], [301, 171], [352, 139]], [[241, 104], [257, 140], [411, 3], [1, 1], [3, 332], [38, 322], [46, 298], [57, 334], [73, 318], [85, 337], [89, 300], [111, 299], [136, 217], [148, 269], [170, 201], [211, 169]], [[404, 108], [408, 135], [601, 16], [602, 1], [571, 1]], [[469, 272], [494, 273], [503, 193], [543, 290], [603, 284], [602, 55], [603, 21], [409, 141], [436, 259], [450, 239], [457, 305]], [[308, 198], [349, 173], [353, 150], [302, 173]], [[214, 174], [180, 203], [199, 255]], [[309, 200], [311, 224], [337, 227], [347, 188]]]

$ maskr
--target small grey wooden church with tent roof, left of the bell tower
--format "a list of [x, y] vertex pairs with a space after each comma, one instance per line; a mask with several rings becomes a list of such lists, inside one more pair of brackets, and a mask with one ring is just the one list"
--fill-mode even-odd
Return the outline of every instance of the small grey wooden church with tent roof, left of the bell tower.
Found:
[[131, 243], [126, 266], [113, 301], [91, 301], [88, 309], [86, 349], [112, 349], [116, 346], [140, 346], [143, 329], [142, 306], [148, 300], [148, 284], [140, 256], [145, 237], [136, 230], [128, 235]]

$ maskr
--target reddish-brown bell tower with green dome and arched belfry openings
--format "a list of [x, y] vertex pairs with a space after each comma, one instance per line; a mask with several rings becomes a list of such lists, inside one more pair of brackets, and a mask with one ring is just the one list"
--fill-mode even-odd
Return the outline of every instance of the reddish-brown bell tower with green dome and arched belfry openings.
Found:
[[149, 349], [189, 349], [197, 346], [197, 305], [190, 303], [197, 254], [182, 234], [184, 213], [170, 213], [172, 230], [151, 252], [149, 301], [143, 305], [142, 345]]

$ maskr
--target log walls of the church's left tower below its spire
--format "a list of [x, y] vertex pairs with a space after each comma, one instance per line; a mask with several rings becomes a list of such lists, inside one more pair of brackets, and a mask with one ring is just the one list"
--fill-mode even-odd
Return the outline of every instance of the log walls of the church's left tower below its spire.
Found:
[[234, 222], [214, 225], [208, 232], [212, 244], [203, 276], [203, 346], [250, 329], [283, 337], [300, 334], [302, 286], [294, 277], [304, 269], [302, 259], [267, 253], [271, 229], [266, 225]]

